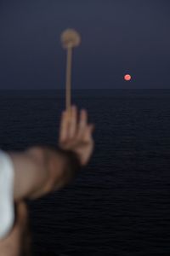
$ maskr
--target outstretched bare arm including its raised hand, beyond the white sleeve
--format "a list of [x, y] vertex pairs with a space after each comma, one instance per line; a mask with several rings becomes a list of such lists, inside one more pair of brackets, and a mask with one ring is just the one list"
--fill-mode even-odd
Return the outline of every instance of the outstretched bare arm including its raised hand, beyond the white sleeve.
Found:
[[25, 152], [9, 155], [14, 165], [14, 200], [35, 199], [54, 189], [62, 188], [73, 177], [70, 157], [86, 166], [94, 149], [92, 133], [94, 125], [88, 125], [88, 113], [82, 110], [77, 120], [77, 108], [62, 113], [59, 148], [33, 147]]

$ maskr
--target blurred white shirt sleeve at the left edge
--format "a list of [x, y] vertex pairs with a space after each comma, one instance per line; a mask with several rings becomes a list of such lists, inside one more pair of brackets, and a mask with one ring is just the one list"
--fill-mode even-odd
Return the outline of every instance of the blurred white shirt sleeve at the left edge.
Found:
[[14, 225], [14, 166], [10, 156], [0, 150], [0, 239]]

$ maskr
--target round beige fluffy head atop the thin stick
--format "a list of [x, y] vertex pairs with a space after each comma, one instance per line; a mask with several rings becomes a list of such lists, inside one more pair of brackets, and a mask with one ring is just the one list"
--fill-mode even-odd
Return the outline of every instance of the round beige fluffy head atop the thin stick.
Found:
[[77, 47], [81, 43], [80, 34], [71, 28], [61, 33], [61, 43], [63, 48]]

